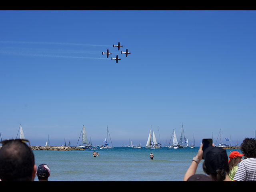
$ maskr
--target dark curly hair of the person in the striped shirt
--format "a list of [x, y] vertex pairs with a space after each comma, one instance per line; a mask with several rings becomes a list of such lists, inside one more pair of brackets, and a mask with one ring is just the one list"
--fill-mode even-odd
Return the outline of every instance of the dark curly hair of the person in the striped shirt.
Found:
[[241, 151], [244, 154], [244, 158], [256, 157], [256, 139], [245, 138], [241, 144]]

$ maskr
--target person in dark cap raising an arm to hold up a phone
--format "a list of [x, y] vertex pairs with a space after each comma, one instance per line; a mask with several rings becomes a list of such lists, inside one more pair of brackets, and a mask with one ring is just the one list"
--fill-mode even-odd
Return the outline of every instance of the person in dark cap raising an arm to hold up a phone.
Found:
[[[201, 144], [197, 155], [192, 159], [192, 163], [186, 171], [183, 181], [188, 181], [191, 176], [196, 174], [196, 169], [200, 161], [203, 159], [203, 155], [203, 170], [212, 181], [231, 181], [228, 177], [229, 167], [226, 150], [219, 147], [210, 146], [206, 148], [203, 153], [202, 147], [203, 144]], [[201, 179], [206, 180], [202, 177]]]

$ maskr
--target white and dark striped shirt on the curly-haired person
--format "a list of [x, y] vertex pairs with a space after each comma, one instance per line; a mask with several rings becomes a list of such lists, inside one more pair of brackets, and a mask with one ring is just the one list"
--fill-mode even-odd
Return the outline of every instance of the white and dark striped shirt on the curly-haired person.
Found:
[[256, 181], [256, 158], [247, 158], [239, 163], [235, 181]]

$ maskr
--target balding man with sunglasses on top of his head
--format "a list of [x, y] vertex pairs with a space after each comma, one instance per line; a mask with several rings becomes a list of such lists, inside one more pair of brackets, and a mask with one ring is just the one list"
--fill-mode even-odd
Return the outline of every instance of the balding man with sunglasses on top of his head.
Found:
[[2, 181], [34, 181], [36, 165], [28, 140], [2, 141], [0, 149], [0, 179]]

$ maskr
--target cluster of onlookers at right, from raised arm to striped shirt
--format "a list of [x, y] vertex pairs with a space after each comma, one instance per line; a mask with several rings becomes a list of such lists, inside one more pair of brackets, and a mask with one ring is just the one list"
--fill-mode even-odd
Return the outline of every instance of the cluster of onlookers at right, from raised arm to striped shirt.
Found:
[[[201, 145], [183, 180], [256, 181], [256, 139], [245, 138], [240, 150], [242, 154], [233, 151], [228, 156], [226, 150], [215, 146], [210, 146], [203, 152]], [[196, 169], [202, 159], [204, 159], [202, 166], [206, 174], [196, 174]]]

